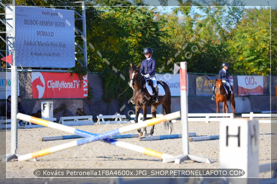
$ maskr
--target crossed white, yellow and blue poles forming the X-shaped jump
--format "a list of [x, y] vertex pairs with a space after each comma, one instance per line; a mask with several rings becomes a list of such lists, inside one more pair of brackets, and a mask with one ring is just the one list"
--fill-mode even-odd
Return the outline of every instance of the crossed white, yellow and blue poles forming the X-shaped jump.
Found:
[[[58, 146], [54, 146], [54, 147], [46, 148], [46, 149], [43, 149], [43, 150], [35, 151], [35, 152], [29, 153], [29, 154], [26, 154], [26, 155], [18, 156], [18, 161], [30, 160], [30, 159], [33, 159], [33, 158], [48, 155], [48, 154], [55, 153], [55, 152], [58, 152], [58, 151], [62, 151], [62, 150], [65, 150], [65, 149], [74, 148], [74, 147], [77, 147], [79, 145], [90, 143], [90, 142], [96, 141], [96, 140], [106, 139], [107, 141], [109, 141], [110, 139], [107, 139], [107, 138], [109, 138], [111, 136], [115, 136], [115, 135], [118, 135], [118, 134], [134, 131], [134, 130], [137, 130], [137, 129], [140, 129], [140, 128], [143, 128], [143, 127], [147, 127], [147, 126], [151, 126], [151, 125], [156, 125], [160, 122], [170, 121], [172, 119], [179, 118], [180, 116], [181, 116], [180, 111], [177, 111], [175, 113], [170, 113], [170, 114], [164, 115], [163, 117], [157, 117], [157, 118], [153, 118], [153, 119], [150, 119], [150, 120], [143, 121], [142, 123], [136, 123], [136, 124], [133, 124], [133, 125], [128, 125], [128, 126], [121, 127], [121, 128], [118, 128], [118, 129], [114, 129], [114, 130], [104, 132], [104, 133], [101, 133], [101, 134], [97, 134], [97, 135], [93, 134], [92, 135], [92, 133], [89, 133], [89, 132], [85, 132], [85, 131], [78, 130], [78, 129], [75, 129], [75, 128], [72, 128], [72, 127], [57, 124], [57, 123], [54, 123], [54, 122], [45, 121], [45, 120], [42, 120], [40, 118], [31, 117], [31, 116], [26, 115], [26, 114], [18, 113], [17, 118], [21, 119], [23, 121], [30, 121], [30, 122], [38, 124], [38, 125], [43, 125], [43, 126], [50, 127], [50, 128], [60, 129], [62, 131], [74, 133], [74, 134], [77, 134], [77, 135], [87, 136], [87, 138], [84, 138], [84, 139], [81, 139], [81, 140], [72, 141], [72, 142], [69, 142], [69, 143], [66, 143], [66, 144], [60, 144]], [[111, 144], [114, 144], [114, 145], [117, 145], [117, 146], [120, 146], [120, 147], [124, 146], [128, 149], [139, 149], [137, 151], [139, 151], [141, 153], [144, 153], [144, 154], [147, 154], [147, 155], [152, 155], [152, 156], [155, 156], [155, 157], [158, 157], [158, 158], [162, 158], [163, 162], [164, 162], [164, 159], [172, 157], [171, 155], [167, 155], [167, 154], [164, 154], [164, 153], [161, 153], [161, 152], [158, 152], [158, 151], [150, 150], [150, 149], [147, 149], [147, 148], [142, 148], [142, 147], [135, 146], [135, 145], [131, 145], [132, 148], [129, 148], [130, 144], [119, 142], [119, 141], [116, 141], [116, 140], [112, 140]]]

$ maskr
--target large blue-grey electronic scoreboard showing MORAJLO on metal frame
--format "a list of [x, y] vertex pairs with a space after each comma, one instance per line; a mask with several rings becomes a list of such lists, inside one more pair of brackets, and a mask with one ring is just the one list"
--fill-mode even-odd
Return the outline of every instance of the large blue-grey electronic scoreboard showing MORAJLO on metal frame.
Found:
[[[7, 9], [8, 48], [14, 36], [12, 9]], [[10, 44], [9, 44], [10, 43]], [[34, 6], [15, 7], [16, 65], [71, 68], [75, 66], [74, 11]]]

